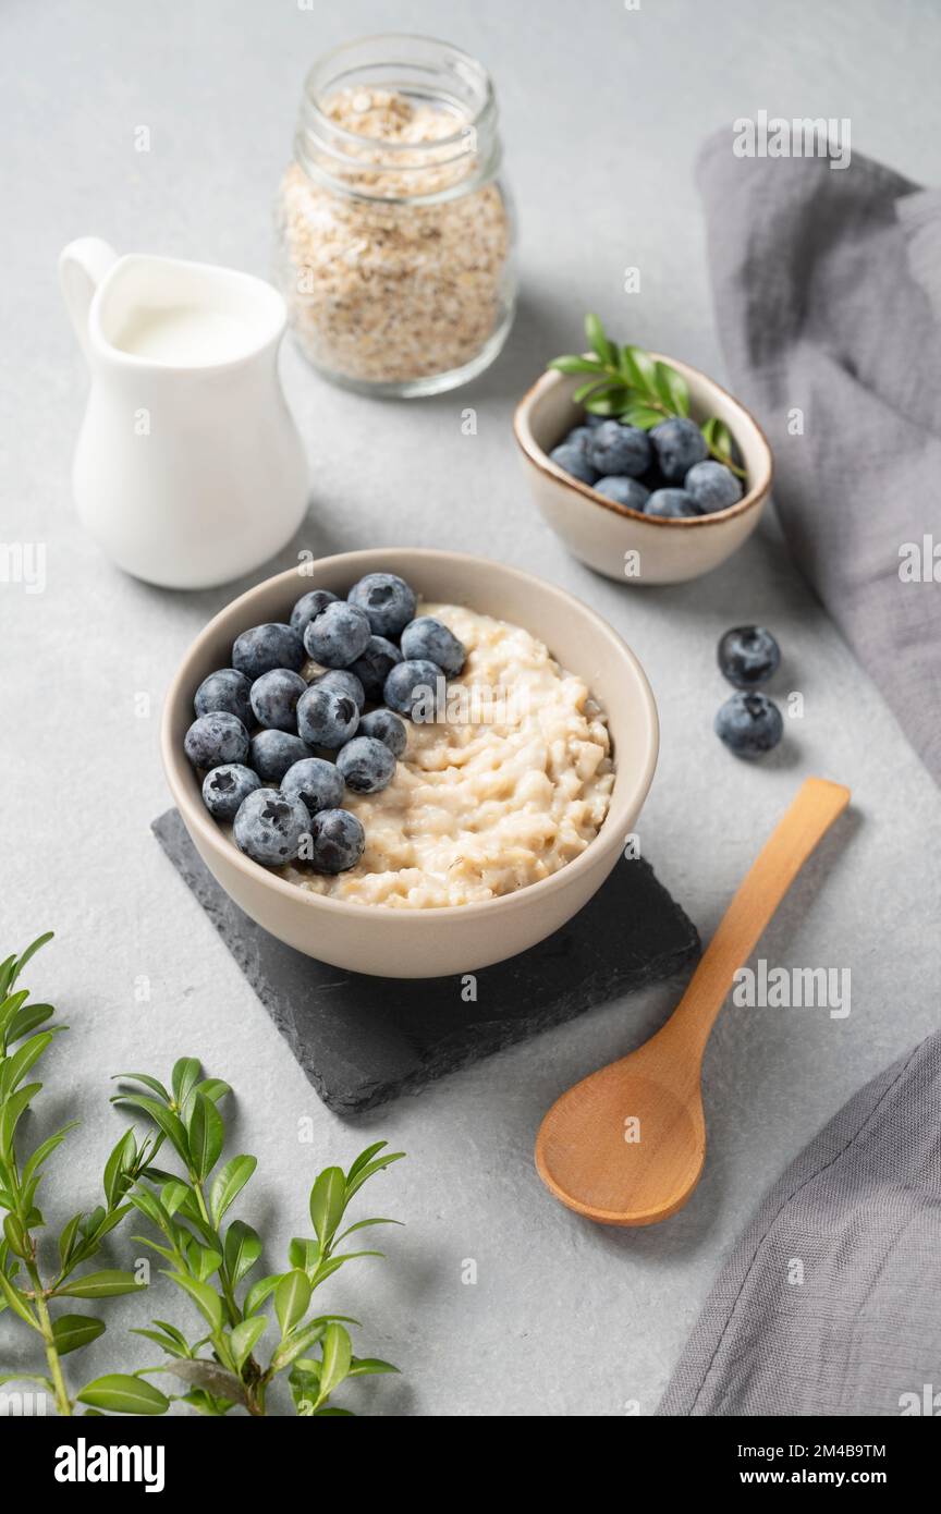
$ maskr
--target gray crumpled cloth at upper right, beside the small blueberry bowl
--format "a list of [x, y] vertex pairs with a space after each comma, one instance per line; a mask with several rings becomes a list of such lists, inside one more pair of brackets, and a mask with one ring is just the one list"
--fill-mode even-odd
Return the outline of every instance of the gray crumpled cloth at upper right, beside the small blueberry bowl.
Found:
[[[729, 129], [699, 182], [719, 333], [787, 540], [941, 783], [941, 194], [858, 153], [838, 171], [737, 157]], [[900, 578], [921, 559], [929, 581]]]

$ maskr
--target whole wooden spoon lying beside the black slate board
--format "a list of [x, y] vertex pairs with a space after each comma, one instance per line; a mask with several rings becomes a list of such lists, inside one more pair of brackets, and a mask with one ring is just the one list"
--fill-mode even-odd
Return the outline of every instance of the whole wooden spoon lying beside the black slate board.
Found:
[[808, 778], [764, 843], [670, 1019], [629, 1057], [555, 1101], [536, 1139], [551, 1193], [602, 1225], [655, 1225], [690, 1198], [705, 1161], [702, 1054], [738, 967], [849, 804], [838, 783]]

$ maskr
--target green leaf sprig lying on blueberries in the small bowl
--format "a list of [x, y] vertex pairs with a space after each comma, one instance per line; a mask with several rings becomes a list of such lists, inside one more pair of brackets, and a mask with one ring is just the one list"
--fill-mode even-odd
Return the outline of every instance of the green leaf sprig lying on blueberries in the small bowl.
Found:
[[[637, 425], [641, 431], [649, 431], [670, 416], [688, 418], [690, 389], [675, 368], [652, 357], [643, 347], [619, 347], [605, 335], [596, 315], [585, 316], [585, 336], [593, 356], [567, 353], [549, 363], [549, 368], [563, 374], [590, 375], [572, 395], [576, 404], [584, 404], [590, 415], [610, 416], [625, 425]], [[744, 478], [744, 468], [735, 462], [735, 442], [725, 421], [710, 416], [699, 424], [699, 430], [710, 456], [725, 463], [735, 477]]]

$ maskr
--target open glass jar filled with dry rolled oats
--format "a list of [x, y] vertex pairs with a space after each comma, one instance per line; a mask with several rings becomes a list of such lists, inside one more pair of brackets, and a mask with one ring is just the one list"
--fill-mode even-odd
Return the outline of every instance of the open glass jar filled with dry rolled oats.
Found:
[[277, 283], [334, 383], [440, 394], [499, 353], [516, 300], [487, 71], [425, 36], [348, 42], [310, 70], [277, 203]]

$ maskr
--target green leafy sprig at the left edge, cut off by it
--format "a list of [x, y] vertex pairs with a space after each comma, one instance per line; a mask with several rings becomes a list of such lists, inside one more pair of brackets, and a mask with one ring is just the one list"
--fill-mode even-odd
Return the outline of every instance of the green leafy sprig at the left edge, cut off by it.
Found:
[[[106, 1299], [145, 1287], [133, 1272], [79, 1272], [79, 1267], [130, 1214], [127, 1192], [148, 1170], [163, 1137], [138, 1146], [135, 1132], [124, 1131], [104, 1164], [104, 1204], [89, 1211], [79, 1210], [65, 1222], [57, 1235], [57, 1261], [51, 1276], [44, 1276], [36, 1232], [45, 1228], [45, 1219], [36, 1204], [38, 1192], [48, 1158], [77, 1125], [77, 1120], [70, 1120], [27, 1155], [20, 1122], [42, 1084], [24, 1079], [67, 1026], [50, 1025], [54, 1014], [51, 1004], [30, 1004], [29, 989], [18, 989], [17, 981], [48, 940], [51, 931], [36, 937], [20, 955], [0, 963], [0, 1311], [9, 1311], [11, 1317], [20, 1319], [42, 1338], [48, 1375], [8, 1372], [0, 1375], [0, 1384], [38, 1382], [54, 1399], [59, 1414], [71, 1414], [76, 1396], [67, 1387], [62, 1357], [97, 1340], [104, 1331], [104, 1320], [85, 1313], [61, 1314], [54, 1305], [59, 1299]], [[45, 1030], [38, 1030], [41, 1025]], [[121, 1381], [135, 1384], [133, 1378]], [[144, 1384], [144, 1390], [150, 1391], [150, 1385]]]

